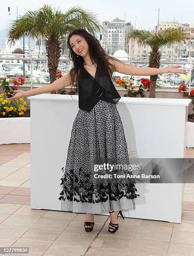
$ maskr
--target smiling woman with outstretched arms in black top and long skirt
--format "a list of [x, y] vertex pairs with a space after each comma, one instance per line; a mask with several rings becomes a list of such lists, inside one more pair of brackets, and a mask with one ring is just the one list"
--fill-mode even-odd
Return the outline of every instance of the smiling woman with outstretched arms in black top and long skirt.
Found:
[[89, 161], [98, 159], [127, 159], [128, 151], [123, 124], [115, 104], [120, 99], [112, 83], [112, 73], [156, 75], [182, 73], [181, 66], [168, 68], [139, 68], [125, 64], [105, 54], [100, 42], [84, 29], [69, 34], [69, 56], [74, 67], [52, 84], [16, 94], [18, 97], [60, 90], [74, 82], [79, 87], [79, 111], [71, 130], [66, 166], [62, 168], [61, 210], [86, 213], [86, 232], [94, 227], [94, 214], [110, 212], [108, 231], [118, 230], [117, 217], [121, 210], [135, 209], [135, 180], [133, 183], [90, 183]]

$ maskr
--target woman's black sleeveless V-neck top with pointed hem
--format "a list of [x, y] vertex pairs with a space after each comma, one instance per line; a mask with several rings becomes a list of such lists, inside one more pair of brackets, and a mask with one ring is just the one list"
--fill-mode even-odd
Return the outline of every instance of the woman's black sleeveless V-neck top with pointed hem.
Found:
[[87, 112], [90, 112], [99, 100], [116, 104], [121, 98], [108, 71], [103, 71], [101, 75], [99, 73], [98, 66], [94, 77], [83, 67], [78, 79], [79, 108]]

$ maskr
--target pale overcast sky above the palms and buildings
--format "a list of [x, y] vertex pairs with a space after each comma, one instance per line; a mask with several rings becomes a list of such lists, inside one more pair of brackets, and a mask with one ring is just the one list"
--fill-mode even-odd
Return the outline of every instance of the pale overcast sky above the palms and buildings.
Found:
[[[10, 20], [16, 18], [17, 6], [18, 15], [23, 15], [28, 10], [41, 8], [44, 4], [51, 5], [52, 8], [60, 8], [63, 12], [73, 6], [80, 6], [84, 10], [94, 12], [101, 22], [112, 21], [116, 17], [124, 19], [126, 11], [126, 22], [131, 22], [135, 26], [136, 20], [138, 29], [154, 29], [158, 23], [158, 8], [160, 8], [160, 21], [175, 19], [182, 23], [194, 23], [193, 0], [1, 0], [0, 29], [5, 29]], [[10, 7], [10, 15], [8, 7]]]

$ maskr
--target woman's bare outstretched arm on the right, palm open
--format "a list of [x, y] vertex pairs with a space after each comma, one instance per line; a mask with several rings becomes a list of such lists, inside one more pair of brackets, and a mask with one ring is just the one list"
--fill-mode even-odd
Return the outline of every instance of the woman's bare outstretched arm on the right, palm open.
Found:
[[165, 74], [165, 73], [180, 73], [180, 74], [188, 74], [189, 72], [182, 71], [178, 69], [181, 66], [170, 66], [167, 68], [149, 68], [149, 67], [135, 67], [130, 64], [127, 64], [123, 61], [116, 61], [116, 60], [110, 60], [111, 63], [115, 66], [115, 71], [122, 73], [122, 74], [128, 74], [128, 75], [134, 75], [134, 76], [152, 76], [156, 74]]

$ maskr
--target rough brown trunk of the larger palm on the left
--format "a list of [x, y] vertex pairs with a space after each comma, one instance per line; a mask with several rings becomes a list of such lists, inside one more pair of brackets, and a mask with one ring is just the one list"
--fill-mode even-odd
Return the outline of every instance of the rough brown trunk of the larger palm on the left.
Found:
[[[50, 83], [56, 80], [56, 70], [61, 57], [61, 42], [58, 39], [52, 38], [46, 41], [46, 53], [48, 58], [48, 70], [50, 74]], [[56, 93], [53, 91], [51, 93]]]

